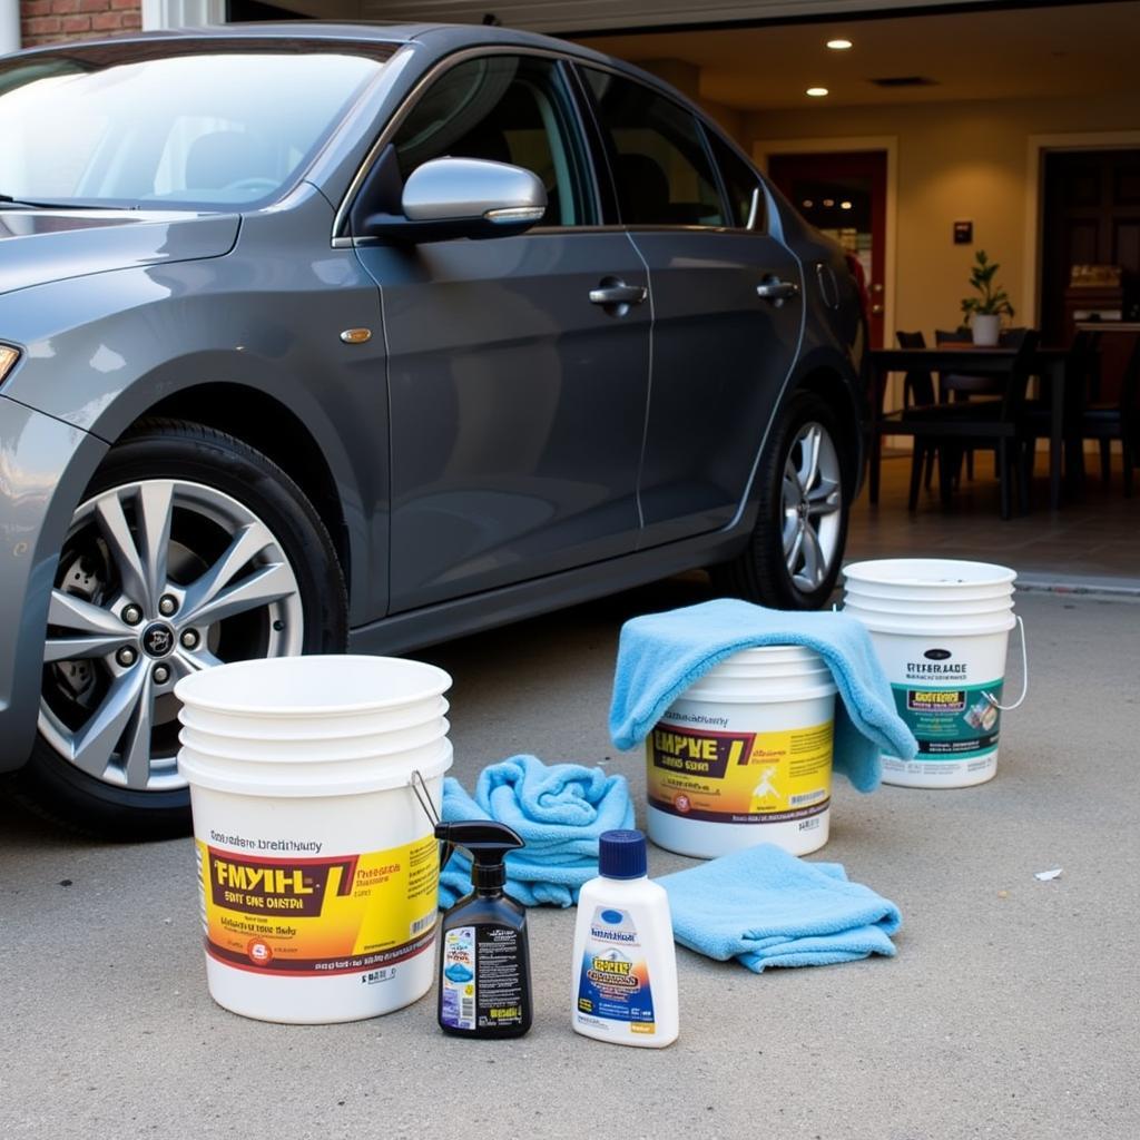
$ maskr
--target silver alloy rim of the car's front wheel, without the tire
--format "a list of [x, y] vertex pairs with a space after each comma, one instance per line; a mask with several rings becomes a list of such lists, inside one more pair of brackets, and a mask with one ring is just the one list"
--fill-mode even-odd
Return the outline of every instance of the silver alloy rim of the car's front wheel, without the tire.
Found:
[[150, 479], [75, 512], [43, 649], [40, 732], [80, 771], [136, 791], [182, 788], [178, 681], [301, 652], [296, 575], [270, 529], [202, 483]]

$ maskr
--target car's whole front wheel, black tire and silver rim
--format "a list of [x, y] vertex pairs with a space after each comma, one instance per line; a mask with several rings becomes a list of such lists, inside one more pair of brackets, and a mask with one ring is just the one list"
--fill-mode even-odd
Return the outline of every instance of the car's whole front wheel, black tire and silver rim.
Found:
[[[180, 676], [345, 644], [344, 576], [304, 494], [241, 440], [182, 421], [147, 421], [108, 451], [55, 587], [17, 793], [99, 838], [188, 830]], [[82, 656], [68, 657], [73, 646]]]

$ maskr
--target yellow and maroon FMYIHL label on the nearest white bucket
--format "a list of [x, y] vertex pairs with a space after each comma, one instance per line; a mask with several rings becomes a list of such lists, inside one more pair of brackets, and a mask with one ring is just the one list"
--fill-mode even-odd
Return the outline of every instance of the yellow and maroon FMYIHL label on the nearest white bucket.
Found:
[[383, 982], [435, 936], [432, 836], [328, 858], [262, 858], [195, 840], [206, 953], [258, 974]]

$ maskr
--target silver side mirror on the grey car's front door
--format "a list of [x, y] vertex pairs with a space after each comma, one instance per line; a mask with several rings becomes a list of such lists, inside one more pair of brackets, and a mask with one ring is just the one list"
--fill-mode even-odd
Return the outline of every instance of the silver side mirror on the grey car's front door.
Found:
[[432, 158], [408, 177], [401, 214], [370, 214], [365, 235], [396, 242], [505, 237], [546, 213], [546, 187], [522, 166], [484, 158]]

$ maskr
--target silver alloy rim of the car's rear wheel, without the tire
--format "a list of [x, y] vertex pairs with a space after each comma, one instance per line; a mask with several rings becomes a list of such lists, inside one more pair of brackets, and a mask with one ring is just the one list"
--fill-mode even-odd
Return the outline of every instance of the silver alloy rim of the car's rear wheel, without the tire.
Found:
[[830, 432], [808, 422], [796, 433], [780, 495], [784, 563], [792, 584], [819, 589], [839, 556], [842, 474]]

